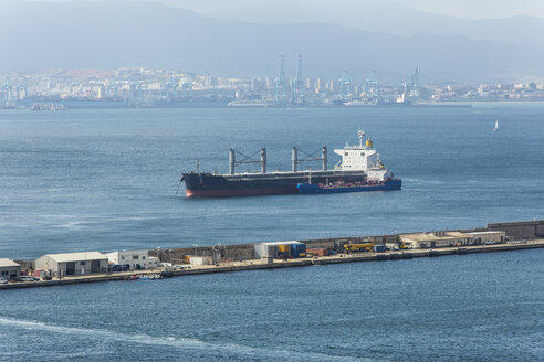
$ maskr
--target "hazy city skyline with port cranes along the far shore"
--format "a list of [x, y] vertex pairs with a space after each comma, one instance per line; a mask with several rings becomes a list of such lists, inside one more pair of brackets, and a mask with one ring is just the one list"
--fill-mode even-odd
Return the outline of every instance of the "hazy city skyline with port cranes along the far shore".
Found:
[[[397, 83], [380, 82], [369, 72], [365, 79], [347, 72], [335, 78], [312, 78], [299, 71], [287, 74], [284, 57], [276, 76], [237, 78], [171, 70], [65, 70], [2, 74], [0, 108], [176, 107], [191, 104], [232, 106], [333, 105], [362, 106], [433, 102], [543, 100], [544, 83], [480, 83], [432, 85], [421, 82], [420, 68]], [[84, 104], [81, 102], [84, 100]], [[74, 103], [75, 102], [75, 103]], [[49, 108], [48, 108], [49, 109]]]

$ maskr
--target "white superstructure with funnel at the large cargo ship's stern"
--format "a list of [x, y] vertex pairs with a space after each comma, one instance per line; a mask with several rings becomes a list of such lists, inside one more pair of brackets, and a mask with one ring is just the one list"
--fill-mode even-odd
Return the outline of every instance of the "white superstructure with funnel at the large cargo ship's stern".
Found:
[[365, 171], [368, 181], [386, 181], [393, 178], [393, 172], [388, 171], [381, 160], [379, 153], [373, 149], [373, 140], [367, 138], [365, 145], [363, 139], [365, 132], [359, 130], [357, 134], [359, 145], [346, 146], [343, 149], [335, 149], [334, 152], [342, 157], [334, 168], [342, 171]]

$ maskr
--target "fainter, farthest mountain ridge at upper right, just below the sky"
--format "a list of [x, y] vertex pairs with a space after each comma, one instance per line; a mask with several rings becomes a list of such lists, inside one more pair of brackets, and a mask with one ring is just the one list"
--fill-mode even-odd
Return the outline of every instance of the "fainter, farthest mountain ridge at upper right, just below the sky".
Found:
[[[241, 1], [241, 0], [239, 0]], [[311, 2], [311, 1], [308, 1]], [[175, 2], [172, 2], [175, 3]], [[409, 3], [409, 2], [407, 2]], [[428, 13], [402, 6], [368, 1], [328, 1], [318, 6], [285, 0], [245, 0], [209, 11], [208, 15], [255, 23], [328, 23], [391, 35], [464, 35], [472, 40], [543, 44], [544, 19], [461, 19]]]

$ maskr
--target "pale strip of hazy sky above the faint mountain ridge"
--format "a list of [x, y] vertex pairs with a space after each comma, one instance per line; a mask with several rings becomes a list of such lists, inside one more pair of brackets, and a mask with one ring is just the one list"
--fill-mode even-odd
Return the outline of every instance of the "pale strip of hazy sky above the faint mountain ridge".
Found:
[[[269, 7], [281, 0], [155, 0], [195, 11], [212, 11], [244, 3], [265, 2]], [[544, 0], [290, 0], [290, 3], [308, 4], [313, 8], [331, 8], [360, 4], [405, 7], [446, 15], [490, 19], [512, 15], [544, 18]]]

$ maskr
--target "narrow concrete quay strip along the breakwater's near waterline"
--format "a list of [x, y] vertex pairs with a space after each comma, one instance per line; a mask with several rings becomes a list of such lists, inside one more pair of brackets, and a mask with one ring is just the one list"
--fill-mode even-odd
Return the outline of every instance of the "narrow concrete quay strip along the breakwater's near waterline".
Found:
[[[402, 252], [385, 252], [385, 253], [362, 253], [362, 254], [338, 254], [333, 256], [322, 257], [307, 257], [301, 259], [248, 259], [243, 262], [226, 262], [219, 265], [201, 265], [191, 268], [172, 270], [172, 276], [190, 276], [210, 273], [229, 273], [229, 272], [242, 272], [242, 270], [258, 270], [258, 269], [274, 269], [285, 267], [303, 267], [313, 265], [326, 265], [326, 264], [339, 264], [339, 263], [359, 263], [359, 262], [384, 262], [384, 260], [399, 260], [411, 259], [416, 257], [436, 257], [443, 255], [465, 255], [473, 253], [492, 253], [492, 252], [506, 252], [506, 251], [520, 251], [531, 248], [544, 247], [544, 239], [520, 241], [510, 242], [500, 245], [477, 245], [467, 247], [444, 247], [439, 249], [408, 249]], [[138, 275], [156, 274], [158, 270], [139, 270]], [[97, 283], [97, 281], [115, 281], [125, 280], [127, 277], [134, 275], [134, 272], [126, 273], [112, 273], [88, 275], [80, 277], [63, 277], [62, 279], [53, 280], [40, 280], [32, 283], [13, 283], [0, 285], [2, 289], [15, 289], [15, 288], [34, 288], [34, 287], [48, 287], [60, 285], [72, 285], [83, 283]]]

